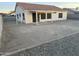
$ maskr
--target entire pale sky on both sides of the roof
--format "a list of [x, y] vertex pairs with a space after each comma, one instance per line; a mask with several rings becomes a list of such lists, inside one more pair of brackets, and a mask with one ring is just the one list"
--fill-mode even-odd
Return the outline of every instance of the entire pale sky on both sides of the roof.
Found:
[[[32, 2], [31, 2], [32, 3]], [[35, 4], [55, 5], [60, 8], [76, 8], [79, 2], [33, 2]], [[0, 2], [0, 12], [9, 12], [15, 10], [16, 2]]]

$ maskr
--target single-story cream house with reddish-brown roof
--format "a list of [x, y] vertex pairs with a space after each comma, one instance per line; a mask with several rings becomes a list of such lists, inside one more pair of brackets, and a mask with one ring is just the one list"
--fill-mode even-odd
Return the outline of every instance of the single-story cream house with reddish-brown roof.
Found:
[[67, 19], [67, 11], [52, 5], [17, 2], [15, 11], [16, 21], [26, 24]]

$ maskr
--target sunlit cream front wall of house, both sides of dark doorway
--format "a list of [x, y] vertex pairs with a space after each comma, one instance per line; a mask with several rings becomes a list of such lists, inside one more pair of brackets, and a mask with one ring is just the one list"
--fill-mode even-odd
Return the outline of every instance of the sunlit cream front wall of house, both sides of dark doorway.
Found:
[[[53, 13], [56, 12], [56, 13]], [[63, 11], [63, 12], [59, 12], [59, 11], [53, 11], [52, 13], [52, 19], [41, 19], [41, 15], [40, 15], [40, 22], [45, 22], [45, 21], [56, 21], [56, 20], [66, 20], [67, 19], [67, 12]], [[62, 18], [58, 18], [58, 14], [59, 13], [63, 13], [63, 17]], [[26, 19], [26, 23], [33, 23], [32, 22], [32, 13], [29, 11], [25, 11], [25, 19]]]

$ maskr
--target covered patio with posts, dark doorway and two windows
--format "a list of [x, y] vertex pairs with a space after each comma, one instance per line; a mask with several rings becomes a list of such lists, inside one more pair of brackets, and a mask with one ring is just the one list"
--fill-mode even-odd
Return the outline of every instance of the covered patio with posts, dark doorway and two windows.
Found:
[[32, 10], [30, 12], [32, 13], [32, 20], [35, 23], [52, 21], [52, 14], [56, 14], [56, 11], [52, 12], [51, 10]]

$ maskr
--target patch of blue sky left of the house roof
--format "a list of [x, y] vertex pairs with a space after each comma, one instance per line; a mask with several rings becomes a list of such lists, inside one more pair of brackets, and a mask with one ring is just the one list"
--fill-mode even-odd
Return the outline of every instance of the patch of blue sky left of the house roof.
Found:
[[13, 11], [15, 9], [15, 2], [0, 2], [0, 12]]

